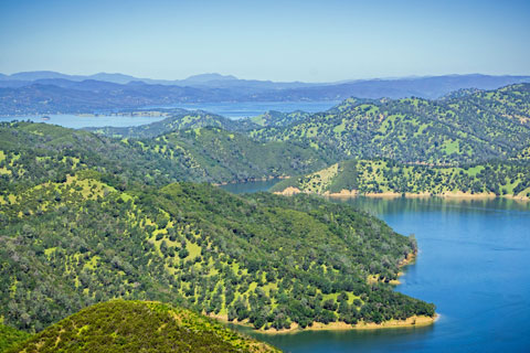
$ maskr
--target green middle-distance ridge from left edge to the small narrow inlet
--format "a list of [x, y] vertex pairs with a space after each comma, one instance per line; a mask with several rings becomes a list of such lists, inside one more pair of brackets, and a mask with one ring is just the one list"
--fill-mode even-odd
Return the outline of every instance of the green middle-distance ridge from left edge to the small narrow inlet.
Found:
[[17, 183], [60, 181], [97, 169], [125, 182], [234, 180], [306, 173], [328, 158], [292, 142], [257, 142], [216, 128], [182, 130], [156, 139], [114, 139], [45, 124], [0, 124], [0, 191]]

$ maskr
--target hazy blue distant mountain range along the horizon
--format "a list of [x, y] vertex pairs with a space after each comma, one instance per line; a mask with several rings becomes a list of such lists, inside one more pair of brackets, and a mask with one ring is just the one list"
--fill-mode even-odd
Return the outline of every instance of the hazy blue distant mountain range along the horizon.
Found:
[[[349, 97], [435, 99], [459, 89], [496, 89], [528, 83], [530, 76], [446, 75], [340, 83], [276, 83], [202, 74], [181, 81], [99, 73], [0, 74], [0, 115], [94, 113], [179, 103], [311, 101]], [[464, 93], [465, 94], [465, 93]]]

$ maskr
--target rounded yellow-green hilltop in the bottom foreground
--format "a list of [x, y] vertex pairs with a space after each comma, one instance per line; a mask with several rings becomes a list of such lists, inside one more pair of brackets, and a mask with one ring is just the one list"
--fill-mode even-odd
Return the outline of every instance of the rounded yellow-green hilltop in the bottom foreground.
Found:
[[8, 352], [279, 352], [192, 311], [113, 300], [61, 320]]

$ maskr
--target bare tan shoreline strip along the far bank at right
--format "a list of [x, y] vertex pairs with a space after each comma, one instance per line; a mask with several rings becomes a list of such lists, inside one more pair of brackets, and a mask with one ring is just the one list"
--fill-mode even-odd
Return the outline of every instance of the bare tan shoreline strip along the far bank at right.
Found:
[[374, 193], [374, 192], [368, 192], [368, 193], [360, 193], [358, 190], [341, 190], [340, 192], [335, 192], [330, 193], [329, 191], [325, 193], [310, 193], [310, 192], [304, 192], [299, 190], [298, 188], [294, 186], [288, 186], [284, 189], [283, 191], [275, 191], [274, 194], [277, 195], [284, 195], [284, 196], [292, 196], [298, 193], [306, 193], [306, 194], [316, 194], [320, 196], [326, 196], [326, 197], [331, 197], [331, 199], [350, 199], [350, 197], [358, 197], [358, 196], [363, 196], [363, 197], [374, 197], [374, 199], [430, 199], [430, 197], [439, 197], [439, 199], [452, 199], [452, 200], [492, 200], [492, 199], [509, 199], [509, 200], [515, 200], [515, 201], [530, 201], [530, 197], [528, 196], [517, 196], [517, 195], [496, 195], [494, 193], [477, 193], [477, 194], [471, 194], [468, 192], [462, 192], [462, 191], [456, 191], [456, 192], [444, 192], [442, 194], [433, 194], [430, 192], [421, 192], [421, 193], [411, 193], [411, 192], [405, 192], [405, 193], [399, 193], [399, 192], [381, 192], [381, 193]]

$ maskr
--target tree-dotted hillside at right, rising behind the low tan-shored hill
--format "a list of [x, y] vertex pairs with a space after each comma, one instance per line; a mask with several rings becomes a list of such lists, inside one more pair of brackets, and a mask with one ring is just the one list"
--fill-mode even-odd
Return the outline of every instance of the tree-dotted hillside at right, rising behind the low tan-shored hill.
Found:
[[297, 124], [253, 138], [299, 141], [325, 154], [462, 164], [507, 159], [530, 146], [530, 84], [439, 100], [348, 99]]

